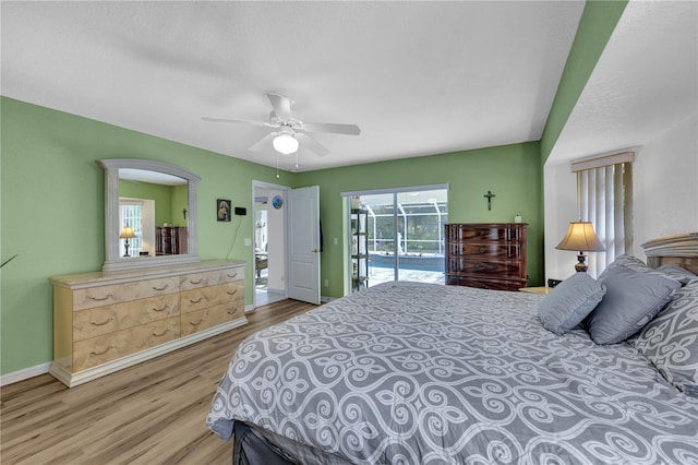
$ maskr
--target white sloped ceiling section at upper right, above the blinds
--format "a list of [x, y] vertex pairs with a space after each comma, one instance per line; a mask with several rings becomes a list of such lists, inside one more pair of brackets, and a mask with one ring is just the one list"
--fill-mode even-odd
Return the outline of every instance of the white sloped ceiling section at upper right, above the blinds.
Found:
[[697, 111], [698, 2], [630, 1], [549, 163], [640, 147]]

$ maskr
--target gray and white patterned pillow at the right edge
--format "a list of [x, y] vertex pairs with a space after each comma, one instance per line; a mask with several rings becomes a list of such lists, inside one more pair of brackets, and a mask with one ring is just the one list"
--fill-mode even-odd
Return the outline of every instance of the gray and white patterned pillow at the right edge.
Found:
[[698, 396], [698, 279], [676, 290], [664, 310], [635, 339], [664, 378]]

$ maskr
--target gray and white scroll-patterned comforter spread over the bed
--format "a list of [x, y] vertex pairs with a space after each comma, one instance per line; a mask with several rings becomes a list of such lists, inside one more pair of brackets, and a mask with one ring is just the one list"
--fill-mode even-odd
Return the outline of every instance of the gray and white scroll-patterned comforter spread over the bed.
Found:
[[540, 296], [387, 283], [238, 348], [208, 427], [351, 463], [697, 464], [698, 400], [634, 348], [557, 336]]

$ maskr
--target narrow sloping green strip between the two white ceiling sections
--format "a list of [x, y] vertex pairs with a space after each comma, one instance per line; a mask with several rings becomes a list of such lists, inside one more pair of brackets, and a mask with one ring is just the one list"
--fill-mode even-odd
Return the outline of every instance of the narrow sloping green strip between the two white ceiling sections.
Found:
[[541, 136], [541, 164], [555, 146], [627, 3], [627, 0], [592, 0], [585, 5]]

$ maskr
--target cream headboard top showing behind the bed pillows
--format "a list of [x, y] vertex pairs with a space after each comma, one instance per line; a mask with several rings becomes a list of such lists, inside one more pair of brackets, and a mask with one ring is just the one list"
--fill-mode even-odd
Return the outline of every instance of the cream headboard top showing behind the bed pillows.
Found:
[[661, 237], [641, 247], [650, 267], [675, 264], [698, 274], [698, 233]]

